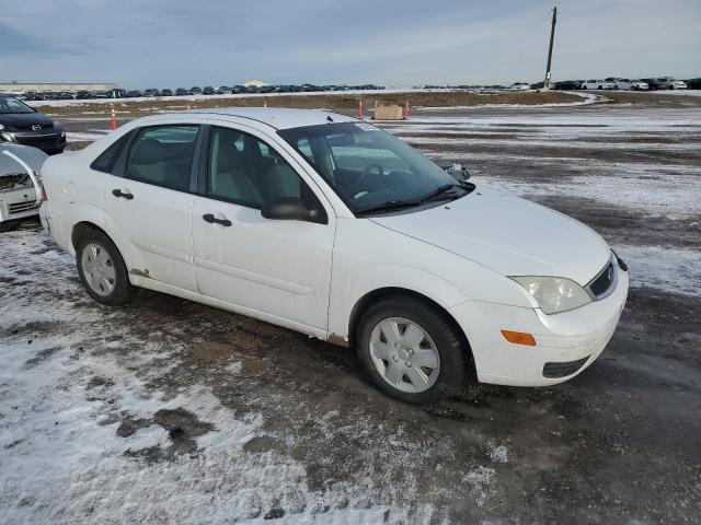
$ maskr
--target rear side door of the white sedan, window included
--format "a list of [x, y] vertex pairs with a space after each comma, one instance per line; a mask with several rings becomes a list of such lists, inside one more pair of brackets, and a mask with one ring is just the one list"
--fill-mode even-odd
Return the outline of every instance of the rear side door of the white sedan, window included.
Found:
[[191, 186], [199, 126], [159, 125], [135, 133], [122, 173], [105, 177], [103, 210], [119, 232], [129, 272], [196, 291]]

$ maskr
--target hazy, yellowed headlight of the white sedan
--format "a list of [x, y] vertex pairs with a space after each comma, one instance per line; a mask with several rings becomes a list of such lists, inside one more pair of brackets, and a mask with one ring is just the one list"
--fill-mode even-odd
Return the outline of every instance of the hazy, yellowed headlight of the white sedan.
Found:
[[519, 276], [512, 279], [528, 290], [545, 314], [578, 308], [591, 301], [584, 288], [564, 277]]

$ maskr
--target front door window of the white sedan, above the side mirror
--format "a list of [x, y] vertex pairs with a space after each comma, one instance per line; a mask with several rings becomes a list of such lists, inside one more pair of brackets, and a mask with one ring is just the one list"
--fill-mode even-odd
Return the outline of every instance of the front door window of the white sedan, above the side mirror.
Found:
[[262, 140], [230, 128], [211, 128], [207, 194], [260, 209], [284, 197], [308, 207], [315, 197], [297, 172]]

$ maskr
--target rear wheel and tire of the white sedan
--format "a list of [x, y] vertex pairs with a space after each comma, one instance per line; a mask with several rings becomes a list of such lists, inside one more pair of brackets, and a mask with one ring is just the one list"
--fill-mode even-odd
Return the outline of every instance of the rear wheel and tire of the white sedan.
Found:
[[[90, 271], [92, 260], [99, 260], [103, 267], [102, 272], [99, 268], [94, 273]], [[76, 265], [80, 282], [90, 296], [99, 303], [119, 306], [127, 303], [134, 295], [135, 288], [129, 282], [124, 259], [112, 240], [103, 232], [90, 230], [79, 238]], [[102, 281], [99, 276], [103, 276], [105, 281]]]

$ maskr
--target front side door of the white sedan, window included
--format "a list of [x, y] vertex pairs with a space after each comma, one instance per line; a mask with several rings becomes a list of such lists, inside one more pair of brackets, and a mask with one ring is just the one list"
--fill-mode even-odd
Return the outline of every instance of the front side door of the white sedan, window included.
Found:
[[[291, 155], [244, 129], [211, 127], [204, 148], [203, 195], [193, 208], [199, 289], [243, 313], [325, 335], [335, 215], [292, 167], [298, 165]], [[267, 201], [283, 197], [321, 207], [324, 217], [308, 222], [261, 215]]]

